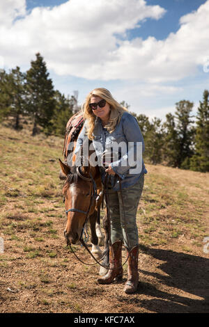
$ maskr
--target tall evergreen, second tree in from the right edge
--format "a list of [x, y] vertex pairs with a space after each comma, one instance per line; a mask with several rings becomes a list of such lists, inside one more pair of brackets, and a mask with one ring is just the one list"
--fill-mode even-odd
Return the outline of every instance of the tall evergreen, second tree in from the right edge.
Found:
[[194, 127], [192, 123], [193, 102], [181, 100], [176, 103], [176, 131], [178, 153], [176, 165], [178, 168], [189, 169], [189, 159], [193, 155]]

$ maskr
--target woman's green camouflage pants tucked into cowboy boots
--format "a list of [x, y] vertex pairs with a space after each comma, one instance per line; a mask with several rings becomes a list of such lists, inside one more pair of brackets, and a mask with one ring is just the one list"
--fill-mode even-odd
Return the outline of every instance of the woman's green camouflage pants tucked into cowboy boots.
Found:
[[111, 219], [111, 243], [123, 241], [125, 247], [131, 249], [139, 244], [136, 223], [137, 207], [144, 186], [144, 175], [136, 184], [121, 191], [109, 189], [109, 214]]

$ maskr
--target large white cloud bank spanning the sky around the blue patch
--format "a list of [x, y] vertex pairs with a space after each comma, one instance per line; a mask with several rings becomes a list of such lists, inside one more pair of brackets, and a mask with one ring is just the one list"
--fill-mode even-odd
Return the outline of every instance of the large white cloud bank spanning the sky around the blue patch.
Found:
[[29, 63], [40, 51], [56, 74], [159, 83], [195, 74], [208, 56], [209, 0], [181, 17], [180, 29], [167, 39], [130, 41], [118, 35], [124, 39], [129, 29], [160, 19], [165, 10], [144, 0], [71, 0], [26, 14], [24, 0], [8, 1], [0, 5], [1, 56], [8, 66]]

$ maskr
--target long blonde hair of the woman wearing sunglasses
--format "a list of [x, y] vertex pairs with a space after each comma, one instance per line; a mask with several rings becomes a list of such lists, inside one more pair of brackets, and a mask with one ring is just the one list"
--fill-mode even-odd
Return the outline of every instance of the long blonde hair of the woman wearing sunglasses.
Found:
[[84, 104], [84, 119], [87, 120], [87, 136], [90, 140], [93, 140], [93, 130], [95, 127], [95, 119], [96, 116], [94, 115], [93, 111], [91, 110], [89, 104], [91, 103], [91, 97], [101, 97], [102, 99], [106, 100], [110, 107], [110, 115], [109, 115], [109, 121], [107, 122], [107, 125], [105, 125], [105, 128], [107, 128], [107, 131], [111, 133], [116, 128], [116, 125], [118, 122], [120, 122], [121, 117], [124, 113], [124, 111], [127, 111], [127, 109], [124, 106], [121, 106], [111, 95], [109, 90], [106, 88], [95, 88], [90, 93], [88, 93], [86, 97], [86, 102]]

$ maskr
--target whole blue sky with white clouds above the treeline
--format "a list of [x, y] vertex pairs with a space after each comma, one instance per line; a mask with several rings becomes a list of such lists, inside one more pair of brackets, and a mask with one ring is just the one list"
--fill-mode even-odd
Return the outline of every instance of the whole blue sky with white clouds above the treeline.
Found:
[[164, 119], [209, 89], [209, 0], [0, 0], [0, 68], [44, 57], [54, 88], [79, 104], [108, 88]]

